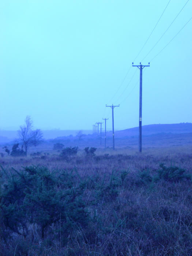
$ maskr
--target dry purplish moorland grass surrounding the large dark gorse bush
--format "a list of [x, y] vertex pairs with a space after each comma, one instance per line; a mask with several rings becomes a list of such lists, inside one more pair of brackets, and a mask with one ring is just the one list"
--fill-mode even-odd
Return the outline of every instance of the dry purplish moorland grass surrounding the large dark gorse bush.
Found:
[[58, 174], [75, 169], [73, 186], [83, 189], [89, 212], [88, 225], [74, 223], [67, 237], [58, 231], [59, 221], [49, 226], [44, 239], [37, 225], [29, 227], [26, 238], [10, 233], [5, 241], [1, 234], [1, 255], [191, 255], [192, 182], [155, 177], [161, 163], [191, 175], [192, 147], [136, 151], [98, 149], [95, 157], [79, 151], [67, 161], [53, 151], [45, 158], [1, 158], [1, 187], [11, 167], [46, 166]]

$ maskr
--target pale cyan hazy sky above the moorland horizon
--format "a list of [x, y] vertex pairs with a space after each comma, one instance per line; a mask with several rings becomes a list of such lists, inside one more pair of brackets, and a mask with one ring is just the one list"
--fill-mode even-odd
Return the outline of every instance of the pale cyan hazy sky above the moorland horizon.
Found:
[[38, 129], [92, 129], [102, 118], [110, 129], [106, 104], [120, 104], [115, 129], [137, 127], [133, 61], [150, 62], [142, 125], [191, 123], [191, 10], [192, 0], [0, 1], [0, 129], [27, 115]]

